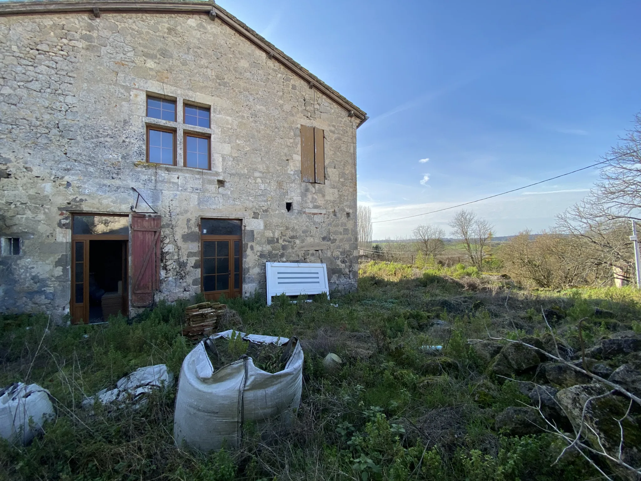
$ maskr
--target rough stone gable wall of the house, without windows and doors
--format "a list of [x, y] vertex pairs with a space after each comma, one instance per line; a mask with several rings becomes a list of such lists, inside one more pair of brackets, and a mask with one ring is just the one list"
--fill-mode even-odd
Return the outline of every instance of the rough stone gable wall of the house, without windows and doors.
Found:
[[[71, 214], [128, 213], [131, 187], [162, 214], [170, 301], [200, 291], [199, 217], [244, 220], [244, 295], [265, 261], [326, 262], [331, 289], [355, 288], [358, 119], [221, 21], [0, 17], [0, 67], [0, 236], [22, 244], [0, 258], [1, 311], [68, 312]], [[212, 171], [145, 162], [162, 124], [146, 92], [176, 97], [178, 121], [183, 99], [212, 106]], [[325, 130], [324, 185], [301, 182], [301, 124]]]

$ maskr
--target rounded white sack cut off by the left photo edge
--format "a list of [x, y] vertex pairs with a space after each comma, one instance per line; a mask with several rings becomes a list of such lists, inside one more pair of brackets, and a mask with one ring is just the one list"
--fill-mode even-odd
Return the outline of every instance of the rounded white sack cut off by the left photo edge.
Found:
[[29, 443], [46, 419], [53, 416], [49, 391], [37, 384], [17, 382], [0, 390], [0, 435], [4, 439]]

